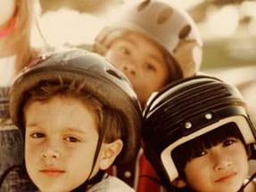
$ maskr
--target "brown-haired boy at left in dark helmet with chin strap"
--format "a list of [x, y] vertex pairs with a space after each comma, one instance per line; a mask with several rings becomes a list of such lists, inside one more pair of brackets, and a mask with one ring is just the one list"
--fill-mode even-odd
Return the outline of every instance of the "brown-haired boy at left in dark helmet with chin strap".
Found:
[[15, 80], [14, 124], [41, 191], [134, 191], [104, 170], [133, 158], [141, 110], [128, 80], [95, 53], [54, 53]]

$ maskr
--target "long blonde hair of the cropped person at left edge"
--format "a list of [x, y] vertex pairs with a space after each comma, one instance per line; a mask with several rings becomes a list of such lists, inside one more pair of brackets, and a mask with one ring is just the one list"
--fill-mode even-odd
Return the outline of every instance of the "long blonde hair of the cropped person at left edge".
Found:
[[33, 54], [30, 45], [32, 23], [35, 20], [37, 0], [16, 0], [16, 11], [13, 14], [15, 27], [12, 33], [4, 36], [1, 52], [16, 55], [16, 73], [24, 68]]

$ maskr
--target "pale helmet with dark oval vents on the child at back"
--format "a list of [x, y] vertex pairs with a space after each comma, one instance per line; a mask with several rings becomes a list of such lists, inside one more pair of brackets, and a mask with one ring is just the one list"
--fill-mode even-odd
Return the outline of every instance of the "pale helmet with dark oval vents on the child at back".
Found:
[[[128, 6], [118, 18], [96, 36], [95, 52], [104, 54], [115, 39], [136, 31], [149, 36], [175, 58], [182, 77], [193, 76], [199, 70], [202, 39], [194, 20], [186, 12], [158, 0], [146, 0]], [[171, 70], [173, 68], [176, 67], [170, 66]]]

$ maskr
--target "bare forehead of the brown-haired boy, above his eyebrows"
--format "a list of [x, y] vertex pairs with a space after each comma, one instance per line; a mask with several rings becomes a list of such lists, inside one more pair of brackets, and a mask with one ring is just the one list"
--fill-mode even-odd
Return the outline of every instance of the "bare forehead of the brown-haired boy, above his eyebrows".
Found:
[[76, 98], [62, 98], [58, 95], [43, 101], [32, 100], [24, 109], [28, 124], [78, 128], [96, 125], [92, 110]]

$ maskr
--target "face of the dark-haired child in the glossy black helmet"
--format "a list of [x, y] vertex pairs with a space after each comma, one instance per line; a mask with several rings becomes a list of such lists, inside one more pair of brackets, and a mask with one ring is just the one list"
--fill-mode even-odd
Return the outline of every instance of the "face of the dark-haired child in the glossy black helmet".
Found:
[[194, 191], [235, 192], [248, 173], [248, 156], [241, 140], [228, 138], [186, 163], [186, 184]]

